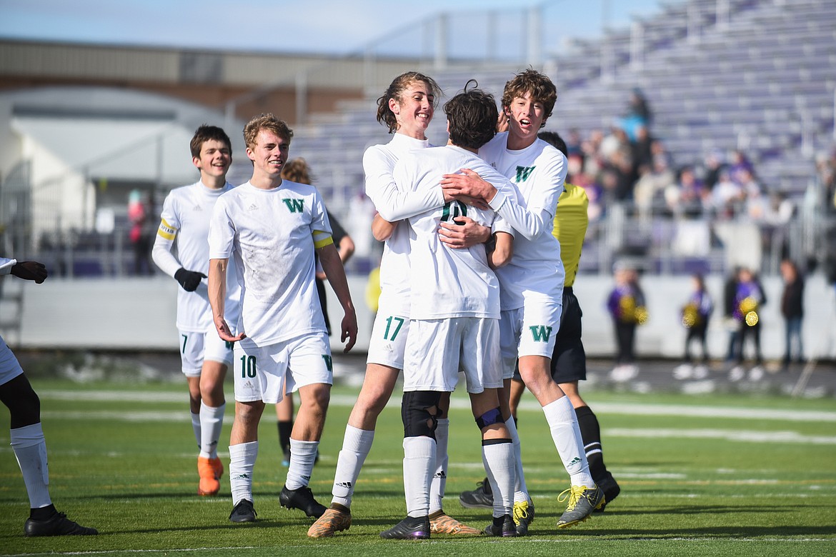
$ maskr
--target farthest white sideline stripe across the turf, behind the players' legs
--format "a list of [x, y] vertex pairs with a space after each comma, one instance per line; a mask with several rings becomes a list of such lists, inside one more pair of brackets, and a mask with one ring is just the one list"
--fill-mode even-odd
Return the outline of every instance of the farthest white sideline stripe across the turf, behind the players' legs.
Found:
[[[72, 400], [79, 402], [135, 402], [135, 403], [187, 403], [186, 389], [178, 392], [145, 391], [58, 391], [43, 390], [38, 396], [51, 400]], [[354, 395], [333, 394], [331, 404], [352, 407], [357, 397]], [[464, 398], [454, 397], [451, 408], [469, 409], [470, 403]], [[400, 408], [400, 397], [393, 396], [387, 408]], [[539, 410], [535, 401], [523, 401], [522, 410]], [[770, 408], [728, 408], [723, 406], [677, 406], [675, 404], [642, 403], [596, 403], [595, 413], [626, 414], [630, 416], [685, 416], [691, 418], [738, 418], [759, 420], [786, 420], [789, 422], [836, 422], [836, 412], [823, 410], [772, 410]], [[166, 413], [174, 415], [174, 413]], [[180, 413], [177, 413], [179, 416]], [[186, 416], [186, 418], [188, 418]], [[162, 418], [161, 418], [162, 419]], [[171, 419], [171, 418], [165, 418]]]

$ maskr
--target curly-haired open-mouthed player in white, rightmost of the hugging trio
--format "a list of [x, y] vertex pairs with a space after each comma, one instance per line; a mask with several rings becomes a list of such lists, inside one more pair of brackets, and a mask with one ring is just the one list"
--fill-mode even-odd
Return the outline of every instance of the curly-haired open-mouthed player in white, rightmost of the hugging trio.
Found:
[[[604, 494], [589, 473], [584, 443], [572, 403], [551, 377], [550, 363], [555, 334], [560, 325], [563, 263], [560, 245], [552, 235], [554, 208], [566, 179], [566, 158], [537, 134], [551, 115], [557, 90], [543, 73], [528, 69], [507, 82], [502, 110], [509, 129], [480, 149], [482, 159], [506, 175], [523, 197], [525, 215], [506, 215], [506, 196], [489, 181], [464, 170], [447, 175], [441, 182], [446, 199], [456, 195], [487, 200], [517, 231], [511, 262], [497, 270], [502, 285], [502, 360], [506, 386], [502, 403], [507, 405], [515, 362], [523, 381], [533, 392], [546, 416], [555, 447], [569, 473], [571, 488], [564, 494], [568, 505], [558, 528], [568, 528], [589, 518], [604, 504]], [[517, 448], [517, 488], [514, 514], [517, 521], [533, 520], [513, 418], [507, 406], [503, 417], [512, 429]], [[506, 414], [507, 412], [507, 414]], [[561, 499], [563, 500], [563, 499]]]

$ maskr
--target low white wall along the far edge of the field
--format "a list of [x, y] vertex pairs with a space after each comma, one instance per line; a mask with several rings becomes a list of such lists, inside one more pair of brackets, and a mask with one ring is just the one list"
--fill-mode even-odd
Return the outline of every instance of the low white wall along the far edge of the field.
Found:
[[[650, 321], [639, 328], [636, 352], [641, 357], [682, 355], [686, 331], [680, 325], [680, 308], [689, 289], [687, 276], [654, 276], [642, 281]], [[349, 286], [358, 311], [356, 350], [369, 346], [374, 316], [365, 306], [364, 276], [350, 276]], [[708, 286], [718, 309], [709, 327], [709, 351], [724, 357], [728, 331], [722, 321], [722, 278], [710, 277]], [[103, 348], [125, 350], [176, 350], [176, 282], [168, 276], [154, 278], [49, 279], [42, 285], [25, 283], [23, 330], [20, 345], [28, 348]], [[575, 293], [584, 311], [584, 346], [589, 356], [614, 353], [612, 322], [604, 301], [612, 287], [608, 277], [581, 276]], [[783, 356], [783, 320], [780, 316], [782, 283], [777, 277], [764, 281], [768, 303], [762, 307], [762, 348], [767, 359]], [[805, 293], [804, 349], [807, 356], [836, 357], [836, 291], [823, 276], [808, 279]], [[342, 318], [339, 302], [329, 290], [334, 331]], [[10, 339], [11, 340], [11, 339]], [[331, 339], [341, 350], [339, 335]]]

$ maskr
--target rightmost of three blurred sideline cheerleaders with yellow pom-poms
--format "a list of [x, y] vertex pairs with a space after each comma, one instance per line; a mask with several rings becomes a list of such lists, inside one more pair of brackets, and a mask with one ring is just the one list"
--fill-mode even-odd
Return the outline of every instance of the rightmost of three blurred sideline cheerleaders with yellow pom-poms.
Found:
[[757, 276], [747, 267], [737, 273], [737, 291], [734, 296], [734, 311], [732, 317], [740, 330], [737, 342], [737, 365], [729, 372], [730, 381], [741, 380], [746, 372], [743, 370], [743, 352], [747, 339], [752, 339], [755, 349], [755, 365], [749, 370], [749, 379], [757, 381], [763, 377], [763, 357], [761, 354], [761, 308], [767, 303], [767, 296], [763, 285]]

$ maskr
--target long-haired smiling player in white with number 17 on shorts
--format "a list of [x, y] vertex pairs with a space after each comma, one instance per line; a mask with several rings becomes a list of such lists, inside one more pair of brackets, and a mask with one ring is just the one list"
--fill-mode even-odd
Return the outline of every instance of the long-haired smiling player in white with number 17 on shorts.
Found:
[[[429, 145], [426, 129], [441, 96], [436, 82], [417, 72], [402, 73], [378, 99], [377, 119], [394, 132], [388, 144], [374, 145], [363, 156], [366, 195], [380, 211], [372, 223], [375, 237], [385, 240], [380, 261], [380, 301], [372, 330], [369, 357], [363, 387], [345, 428], [343, 448], [334, 474], [330, 508], [308, 530], [314, 538], [329, 537], [351, 525], [351, 499], [360, 468], [369, 455], [375, 438], [377, 417], [395, 389], [395, 381], [404, 366], [404, 347], [410, 328], [409, 225], [400, 223], [410, 215], [443, 203], [441, 188], [425, 191], [401, 191], [395, 187], [392, 172], [404, 154]], [[469, 222], [468, 230], [488, 230]], [[466, 244], [465, 246], [472, 245]], [[431, 489], [431, 529], [440, 534], [479, 534], [478, 529], [461, 524], [444, 513], [447, 463], [447, 395], [442, 397], [441, 417], [436, 430], [437, 467]]]

